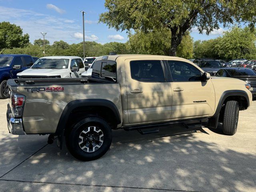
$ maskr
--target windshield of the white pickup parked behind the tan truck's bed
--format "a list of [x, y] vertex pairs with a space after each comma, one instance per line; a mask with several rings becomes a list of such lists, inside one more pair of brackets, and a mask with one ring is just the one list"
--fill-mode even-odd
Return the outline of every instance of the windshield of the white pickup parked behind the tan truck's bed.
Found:
[[31, 67], [33, 69], [67, 69], [69, 59], [38, 59]]

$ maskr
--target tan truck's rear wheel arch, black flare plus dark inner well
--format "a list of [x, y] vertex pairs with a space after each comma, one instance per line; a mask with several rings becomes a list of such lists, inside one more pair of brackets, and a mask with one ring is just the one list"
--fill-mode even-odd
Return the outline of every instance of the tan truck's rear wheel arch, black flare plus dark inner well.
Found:
[[[108, 118], [112, 128], [121, 123], [120, 114], [116, 105], [106, 99], [81, 99], [69, 102], [64, 108], [55, 132], [61, 135], [69, 124], [70, 120], [78, 120], [88, 115], [96, 115], [101, 118]], [[105, 115], [105, 116], [104, 116]], [[74, 118], [74, 119], [72, 119]]]

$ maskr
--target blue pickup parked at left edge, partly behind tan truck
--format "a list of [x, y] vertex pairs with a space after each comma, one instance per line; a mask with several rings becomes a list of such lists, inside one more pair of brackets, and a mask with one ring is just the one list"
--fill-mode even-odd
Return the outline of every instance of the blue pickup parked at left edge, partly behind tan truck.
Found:
[[8, 97], [7, 80], [17, 78], [17, 73], [33, 64], [34, 60], [30, 55], [0, 54], [0, 99]]

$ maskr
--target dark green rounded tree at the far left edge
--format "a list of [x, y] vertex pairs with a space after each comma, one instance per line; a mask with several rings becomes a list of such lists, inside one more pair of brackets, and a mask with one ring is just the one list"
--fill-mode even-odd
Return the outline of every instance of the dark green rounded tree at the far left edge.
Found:
[[22, 28], [10, 22], [0, 22], [0, 52], [5, 49], [19, 48], [28, 45], [29, 35], [23, 34]]

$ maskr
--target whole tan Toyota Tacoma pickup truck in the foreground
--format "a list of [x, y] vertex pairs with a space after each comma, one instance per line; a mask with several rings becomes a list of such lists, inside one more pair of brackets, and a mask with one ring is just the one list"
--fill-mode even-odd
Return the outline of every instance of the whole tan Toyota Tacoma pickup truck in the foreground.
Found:
[[192, 62], [154, 55], [98, 57], [91, 78], [10, 79], [8, 129], [12, 134], [65, 138], [80, 160], [104, 155], [112, 130], [156, 132], [160, 126], [216, 128], [236, 133], [239, 110], [252, 102], [250, 85], [211, 77]]

